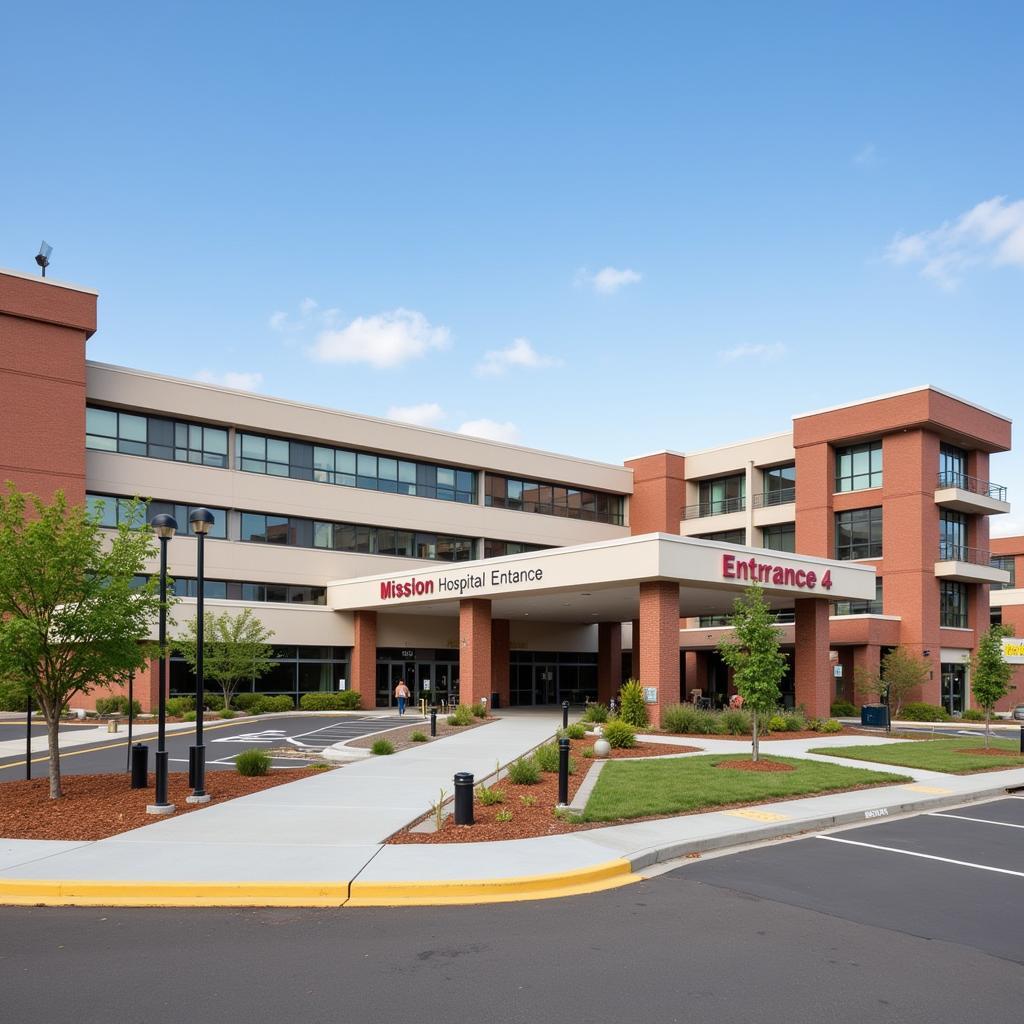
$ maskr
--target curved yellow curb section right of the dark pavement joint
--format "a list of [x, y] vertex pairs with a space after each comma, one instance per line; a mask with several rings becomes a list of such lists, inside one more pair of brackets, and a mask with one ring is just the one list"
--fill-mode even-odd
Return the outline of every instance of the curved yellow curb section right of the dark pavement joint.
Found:
[[640, 876], [628, 860], [617, 858], [591, 867], [551, 874], [451, 882], [359, 882], [350, 886], [345, 906], [442, 906], [467, 903], [509, 903], [513, 900], [555, 899], [614, 889]]

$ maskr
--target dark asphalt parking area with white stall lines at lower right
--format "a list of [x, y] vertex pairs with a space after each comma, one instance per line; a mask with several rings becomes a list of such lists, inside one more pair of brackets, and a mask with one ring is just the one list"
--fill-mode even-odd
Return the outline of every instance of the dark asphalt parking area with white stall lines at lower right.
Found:
[[694, 861], [666, 878], [1024, 963], [1024, 795]]

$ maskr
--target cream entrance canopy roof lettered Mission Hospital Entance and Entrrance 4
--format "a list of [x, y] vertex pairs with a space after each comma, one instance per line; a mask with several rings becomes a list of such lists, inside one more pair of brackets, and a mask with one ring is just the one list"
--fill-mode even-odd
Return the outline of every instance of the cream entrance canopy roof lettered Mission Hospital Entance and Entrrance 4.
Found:
[[445, 563], [328, 585], [337, 611], [458, 615], [459, 603], [486, 598], [496, 618], [629, 622], [640, 585], [679, 585], [680, 617], [727, 614], [736, 596], [760, 584], [775, 608], [797, 598], [872, 600], [874, 569], [808, 555], [698, 541], [669, 534]]

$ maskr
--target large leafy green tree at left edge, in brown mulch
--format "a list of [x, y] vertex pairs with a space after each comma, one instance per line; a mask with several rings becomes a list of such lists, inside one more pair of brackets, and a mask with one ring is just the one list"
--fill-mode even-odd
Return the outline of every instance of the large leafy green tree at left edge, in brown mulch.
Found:
[[158, 581], [137, 578], [155, 553], [148, 528], [125, 522], [108, 542], [61, 492], [49, 505], [11, 483], [0, 493], [0, 678], [20, 680], [43, 713], [52, 800], [61, 796], [57, 729], [71, 698], [153, 653]]

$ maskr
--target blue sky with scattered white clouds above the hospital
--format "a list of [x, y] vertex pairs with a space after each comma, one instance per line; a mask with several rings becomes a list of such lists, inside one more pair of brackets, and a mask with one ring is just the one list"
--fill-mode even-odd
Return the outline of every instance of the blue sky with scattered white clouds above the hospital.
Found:
[[92, 358], [607, 461], [1024, 423], [1019, 4], [143, 6], [0, 34], [0, 265]]

